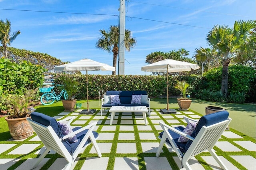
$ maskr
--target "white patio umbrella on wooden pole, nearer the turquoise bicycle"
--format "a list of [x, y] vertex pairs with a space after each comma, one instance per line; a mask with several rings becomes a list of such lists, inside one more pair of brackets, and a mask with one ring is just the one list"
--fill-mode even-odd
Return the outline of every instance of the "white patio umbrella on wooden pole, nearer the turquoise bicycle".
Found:
[[87, 113], [90, 113], [89, 110], [89, 96], [88, 96], [88, 71], [114, 71], [115, 67], [112, 67], [108, 64], [99, 63], [97, 61], [93, 61], [91, 59], [82, 59], [79, 61], [74, 61], [72, 63], [63, 64], [60, 66], [56, 66], [54, 70], [58, 71], [86, 71], [86, 90], [87, 90]]

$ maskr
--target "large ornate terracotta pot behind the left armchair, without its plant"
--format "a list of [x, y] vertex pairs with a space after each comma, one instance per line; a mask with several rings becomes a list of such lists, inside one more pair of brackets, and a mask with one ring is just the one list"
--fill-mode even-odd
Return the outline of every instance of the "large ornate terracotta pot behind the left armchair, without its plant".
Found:
[[28, 123], [27, 118], [8, 119], [8, 117], [5, 117], [10, 134], [14, 140], [25, 139], [33, 134], [34, 130]]

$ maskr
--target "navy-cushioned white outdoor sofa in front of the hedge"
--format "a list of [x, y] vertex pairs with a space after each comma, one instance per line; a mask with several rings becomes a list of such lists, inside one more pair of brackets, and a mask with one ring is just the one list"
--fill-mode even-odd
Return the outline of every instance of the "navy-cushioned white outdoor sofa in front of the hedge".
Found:
[[[113, 102], [113, 100], [111, 101], [110, 95], [112, 97], [113, 95], [117, 95], [120, 100], [120, 104]], [[137, 102], [132, 103], [132, 98], [134, 97], [133, 95], [141, 95], [140, 101], [137, 100]], [[102, 109], [105, 110], [106, 108], [110, 108], [112, 106], [146, 106], [150, 116], [150, 98], [148, 98], [148, 93], [146, 91], [106, 91], [101, 101], [100, 115], [102, 115]]]

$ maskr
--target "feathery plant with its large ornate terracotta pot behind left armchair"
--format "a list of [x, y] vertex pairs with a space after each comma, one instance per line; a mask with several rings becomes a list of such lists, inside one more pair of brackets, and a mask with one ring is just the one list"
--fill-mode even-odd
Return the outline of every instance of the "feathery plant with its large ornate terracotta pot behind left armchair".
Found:
[[25, 139], [33, 134], [27, 121], [30, 112], [28, 107], [36, 103], [37, 89], [24, 90], [22, 95], [7, 94], [2, 97], [10, 115], [5, 117], [9, 131], [14, 140]]

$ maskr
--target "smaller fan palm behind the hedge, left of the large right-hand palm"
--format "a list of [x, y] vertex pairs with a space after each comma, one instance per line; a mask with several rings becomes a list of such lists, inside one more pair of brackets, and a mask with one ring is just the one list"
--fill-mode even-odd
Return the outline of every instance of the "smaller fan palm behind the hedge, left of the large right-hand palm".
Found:
[[216, 57], [217, 52], [214, 49], [200, 47], [200, 49], [195, 49], [195, 55], [193, 56], [196, 61], [200, 61], [203, 63], [207, 61], [208, 63], [208, 70], [210, 69], [210, 61]]

